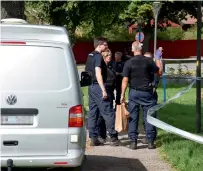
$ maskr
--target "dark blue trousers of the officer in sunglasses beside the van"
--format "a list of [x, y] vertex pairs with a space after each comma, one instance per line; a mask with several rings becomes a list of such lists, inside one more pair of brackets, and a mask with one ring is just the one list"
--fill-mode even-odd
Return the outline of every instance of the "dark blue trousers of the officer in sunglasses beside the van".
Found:
[[[103, 99], [102, 90], [99, 84], [89, 86], [89, 114], [88, 129], [89, 137], [98, 137], [98, 119], [101, 117], [105, 121], [106, 130], [110, 137], [117, 137], [115, 131], [115, 111], [112, 106], [111, 91], [106, 87], [108, 99]], [[106, 132], [105, 130], [105, 132]]]

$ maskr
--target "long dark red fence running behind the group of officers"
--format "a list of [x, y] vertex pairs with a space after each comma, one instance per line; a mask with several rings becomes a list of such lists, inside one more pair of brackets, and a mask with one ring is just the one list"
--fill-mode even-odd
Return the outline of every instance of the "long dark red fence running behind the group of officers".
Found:
[[[132, 42], [109, 42], [109, 48], [114, 54], [116, 51], [125, 53], [131, 48]], [[177, 40], [177, 41], [164, 41], [158, 40], [157, 47], [163, 47], [164, 53], [163, 58], [169, 59], [180, 59], [189, 58], [191, 56], [196, 56], [197, 53], [197, 41], [196, 40]], [[201, 55], [203, 56], [203, 40], [201, 44]], [[73, 53], [77, 64], [85, 63], [87, 56], [90, 52], [94, 50], [93, 41], [92, 42], [76, 42], [73, 46]], [[148, 51], [154, 51], [154, 41], [149, 41]], [[114, 55], [113, 55], [114, 57]]]

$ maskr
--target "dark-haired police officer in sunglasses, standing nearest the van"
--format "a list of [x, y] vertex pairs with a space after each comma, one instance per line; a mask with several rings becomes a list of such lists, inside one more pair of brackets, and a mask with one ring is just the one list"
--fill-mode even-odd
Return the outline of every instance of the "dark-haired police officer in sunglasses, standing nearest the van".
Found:
[[107, 66], [101, 55], [108, 47], [105, 38], [94, 40], [95, 50], [89, 54], [86, 62], [86, 71], [92, 75], [93, 83], [88, 88], [89, 94], [89, 114], [88, 129], [91, 139], [91, 146], [101, 145], [98, 140], [96, 126], [99, 114], [104, 118], [107, 131], [110, 134], [110, 144], [119, 145], [118, 134], [115, 131], [115, 112], [111, 107], [110, 92], [106, 88]]

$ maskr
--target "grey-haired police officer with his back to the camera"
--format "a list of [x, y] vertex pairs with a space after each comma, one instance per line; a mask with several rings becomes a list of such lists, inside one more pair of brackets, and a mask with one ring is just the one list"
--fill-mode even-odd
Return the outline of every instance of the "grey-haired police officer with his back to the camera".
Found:
[[147, 122], [148, 109], [156, 105], [151, 83], [151, 73], [162, 73], [160, 60], [156, 63], [152, 58], [142, 55], [142, 45], [139, 42], [132, 44], [134, 57], [125, 63], [123, 69], [121, 102], [125, 101], [125, 92], [129, 82], [129, 105], [130, 112], [128, 135], [131, 139], [130, 148], [137, 148], [139, 106], [143, 109], [144, 121], [146, 125], [146, 137], [148, 148], [154, 149], [156, 139], [156, 128]]

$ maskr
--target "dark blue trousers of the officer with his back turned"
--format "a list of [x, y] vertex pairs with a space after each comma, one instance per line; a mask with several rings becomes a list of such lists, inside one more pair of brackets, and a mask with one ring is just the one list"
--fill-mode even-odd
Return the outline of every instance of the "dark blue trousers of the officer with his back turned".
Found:
[[[139, 107], [143, 110], [143, 119], [145, 122], [146, 137], [149, 142], [156, 139], [156, 127], [147, 122], [147, 112], [149, 108], [156, 105], [156, 99], [153, 91], [139, 91], [130, 88], [129, 90], [129, 105], [130, 112], [128, 135], [132, 141], [137, 141], [138, 138], [138, 121], [139, 121]], [[153, 114], [154, 117], [156, 113]]]

